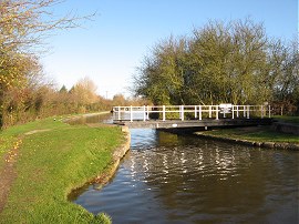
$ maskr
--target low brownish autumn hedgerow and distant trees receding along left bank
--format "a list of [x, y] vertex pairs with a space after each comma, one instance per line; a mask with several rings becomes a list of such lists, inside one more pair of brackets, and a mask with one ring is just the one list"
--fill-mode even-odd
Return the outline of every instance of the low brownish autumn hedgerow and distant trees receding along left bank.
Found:
[[141, 99], [116, 94], [112, 100], [96, 94], [92, 80], [84, 78], [71, 90], [50, 84], [10, 88], [2, 95], [2, 128], [52, 115], [110, 111], [113, 105], [144, 104]]

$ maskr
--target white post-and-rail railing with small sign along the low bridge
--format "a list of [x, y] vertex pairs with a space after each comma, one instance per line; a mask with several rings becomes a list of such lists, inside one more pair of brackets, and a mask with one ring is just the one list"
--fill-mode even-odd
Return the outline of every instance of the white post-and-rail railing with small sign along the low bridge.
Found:
[[205, 118], [219, 120], [221, 118], [271, 116], [270, 105], [143, 105], [113, 106], [113, 120], [147, 121], [154, 120], [203, 120]]

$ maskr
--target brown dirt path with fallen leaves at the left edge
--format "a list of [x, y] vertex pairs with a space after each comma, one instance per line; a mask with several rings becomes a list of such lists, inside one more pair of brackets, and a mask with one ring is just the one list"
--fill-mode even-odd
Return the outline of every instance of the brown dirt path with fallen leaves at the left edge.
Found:
[[18, 142], [14, 143], [13, 147], [3, 156], [4, 165], [0, 170], [0, 213], [6, 206], [10, 187], [17, 177], [16, 163], [21, 142], [22, 140], [19, 139]]

